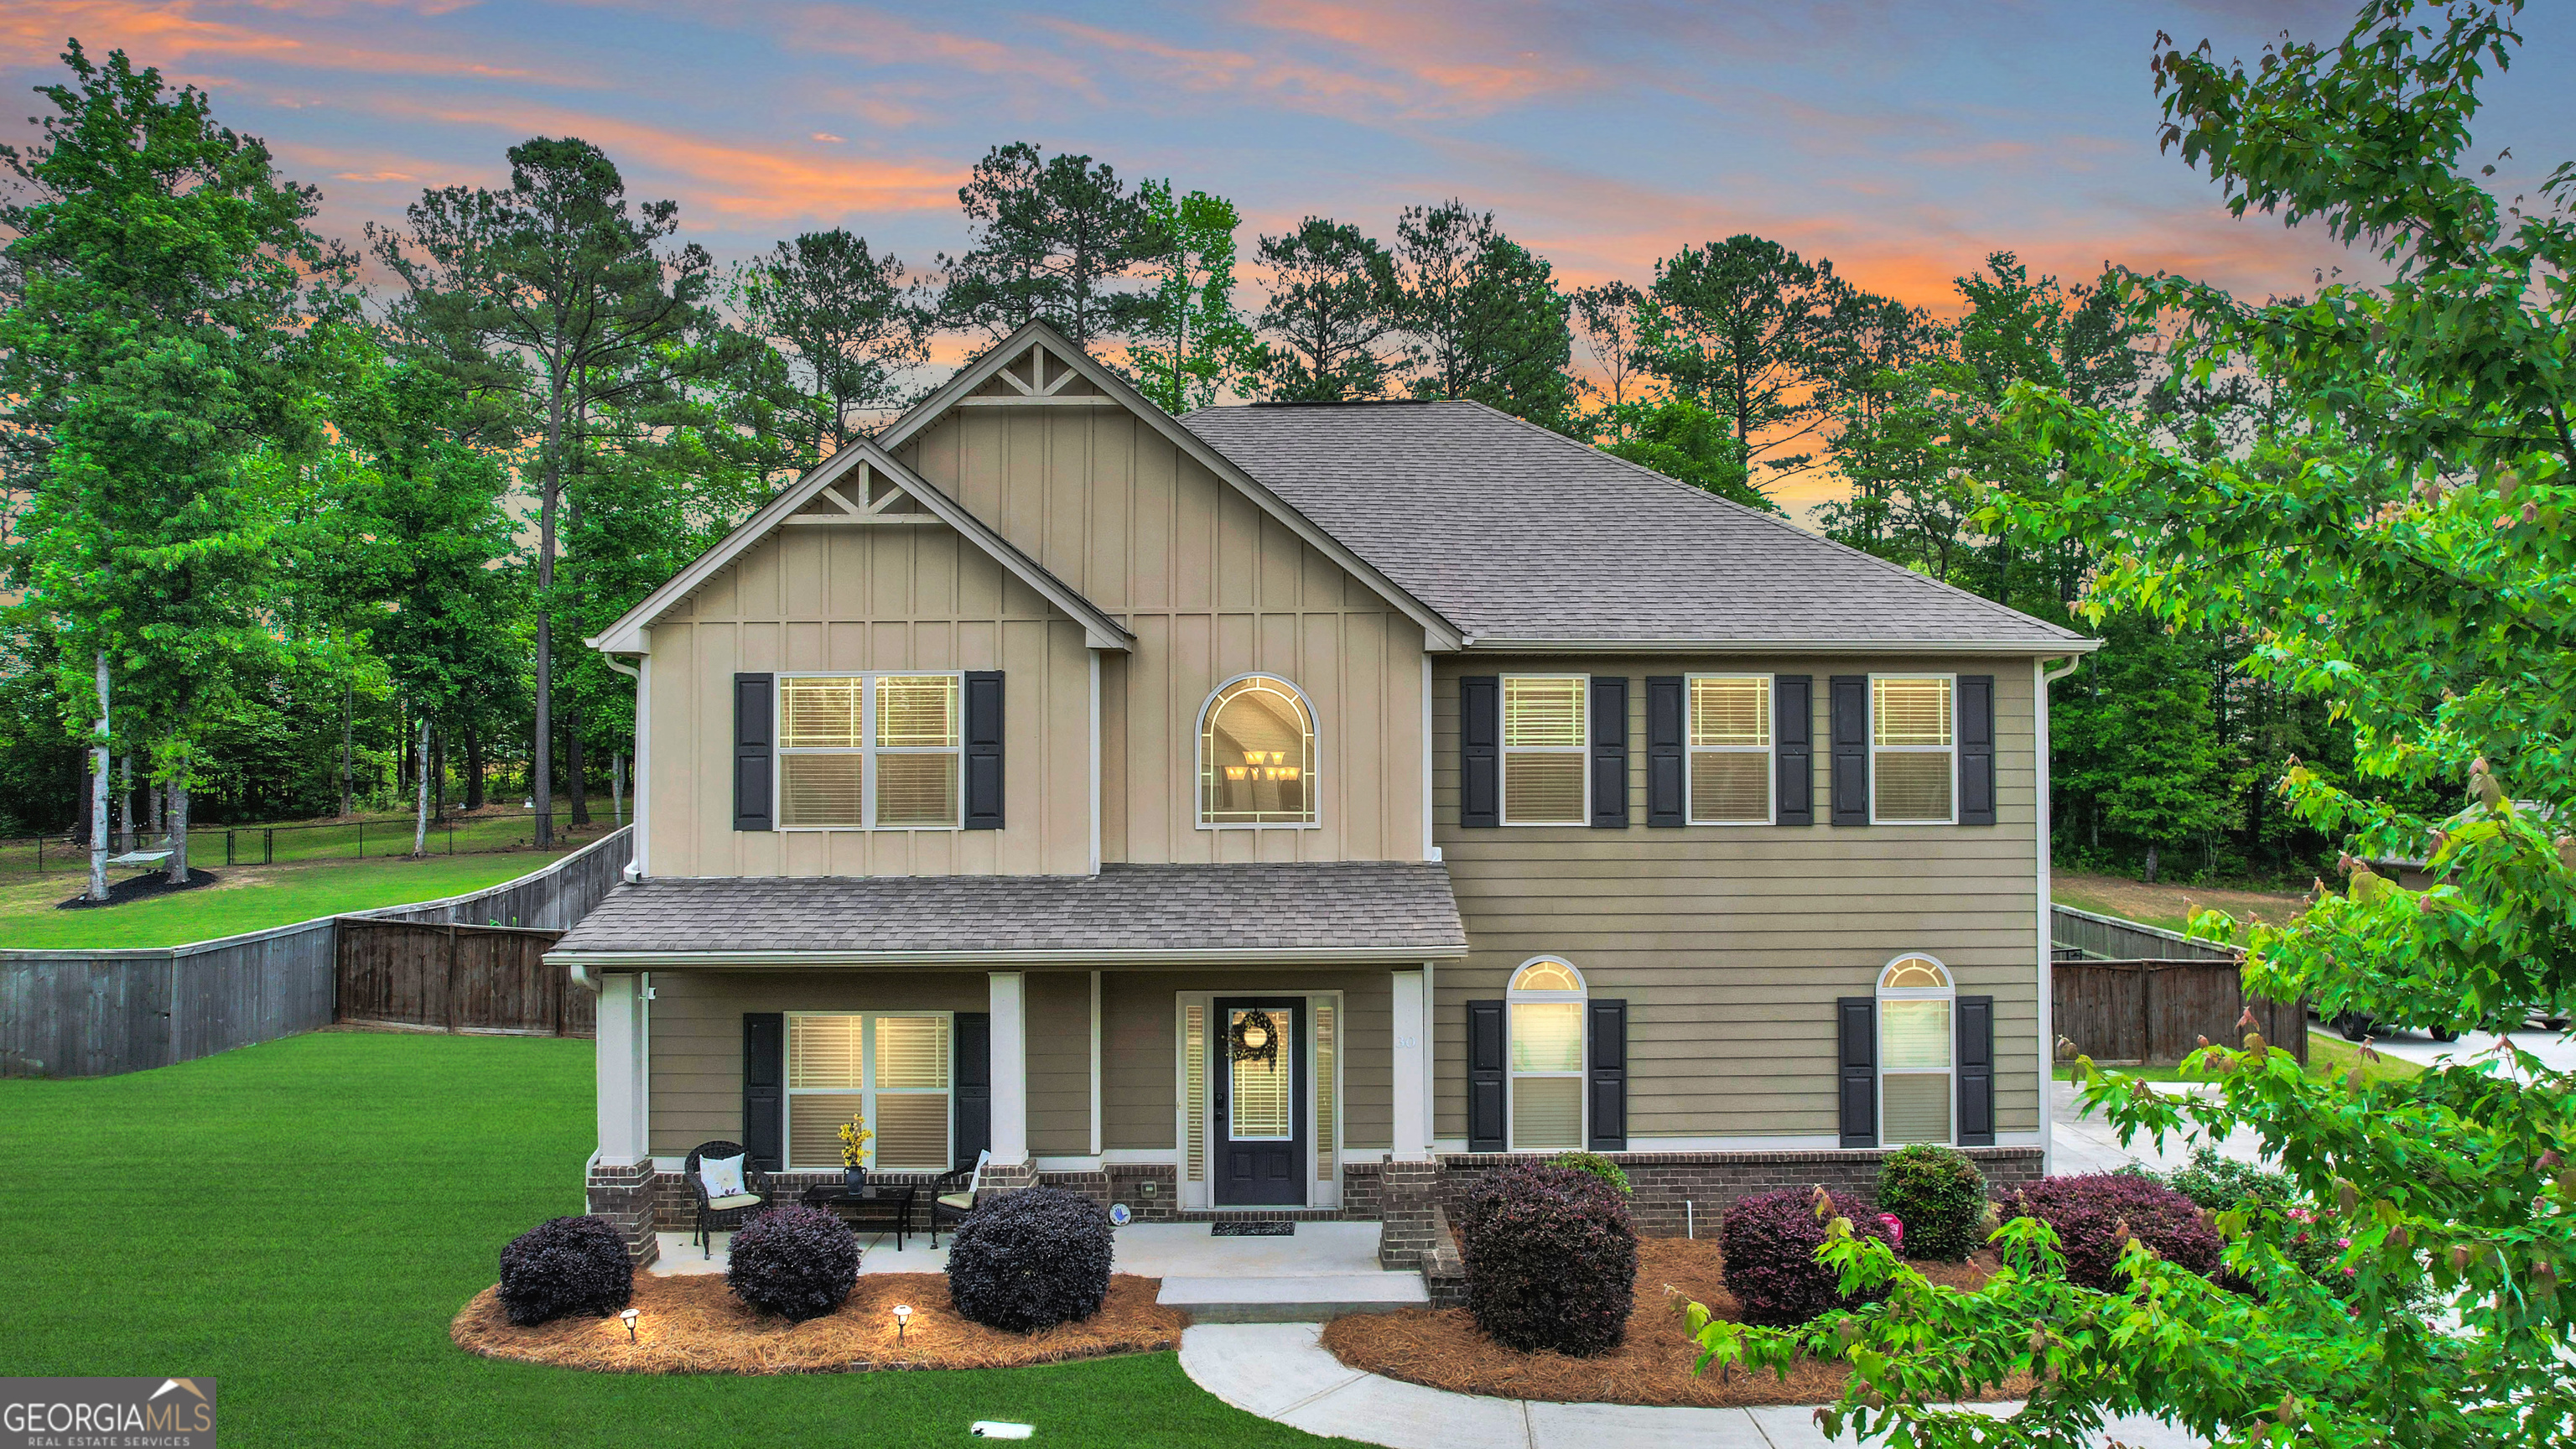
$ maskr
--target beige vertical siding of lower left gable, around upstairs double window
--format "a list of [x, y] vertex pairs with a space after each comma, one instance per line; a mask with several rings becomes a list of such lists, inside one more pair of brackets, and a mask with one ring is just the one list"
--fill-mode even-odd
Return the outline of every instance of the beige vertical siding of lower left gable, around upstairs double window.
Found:
[[[1002, 670], [1002, 830], [734, 830], [734, 676]], [[657, 877], [1084, 874], [1082, 627], [943, 523], [781, 526], [652, 627]]]

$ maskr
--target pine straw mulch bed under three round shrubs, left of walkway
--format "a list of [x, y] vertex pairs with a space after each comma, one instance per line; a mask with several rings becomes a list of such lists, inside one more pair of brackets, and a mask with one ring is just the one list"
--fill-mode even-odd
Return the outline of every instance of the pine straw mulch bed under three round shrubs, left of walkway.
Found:
[[[1064, 1359], [1105, 1359], [1180, 1348], [1190, 1315], [1162, 1307], [1162, 1279], [1118, 1274], [1100, 1312], [1082, 1323], [1002, 1333], [969, 1323], [948, 1302], [945, 1274], [860, 1274], [850, 1299], [824, 1318], [788, 1323], [752, 1312], [724, 1287], [724, 1274], [636, 1274], [636, 1341], [611, 1318], [556, 1318], [515, 1328], [500, 1289], [448, 1325], [448, 1338], [484, 1359], [520, 1359], [562, 1369], [621, 1374], [819, 1374], [845, 1369], [1015, 1369]], [[902, 1346], [894, 1305], [912, 1305]]]

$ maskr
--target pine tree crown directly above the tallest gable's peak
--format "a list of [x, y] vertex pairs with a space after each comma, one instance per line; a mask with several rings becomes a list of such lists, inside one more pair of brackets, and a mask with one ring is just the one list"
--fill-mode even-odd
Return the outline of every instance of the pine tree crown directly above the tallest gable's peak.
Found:
[[1154, 255], [1154, 219], [1108, 162], [1028, 142], [992, 147], [958, 204], [974, 245], [940, 253], [945, 325], [999, 340], [1043, 320], [1090, 348], [1136, 320], [1141, 299], [1118, 284]]

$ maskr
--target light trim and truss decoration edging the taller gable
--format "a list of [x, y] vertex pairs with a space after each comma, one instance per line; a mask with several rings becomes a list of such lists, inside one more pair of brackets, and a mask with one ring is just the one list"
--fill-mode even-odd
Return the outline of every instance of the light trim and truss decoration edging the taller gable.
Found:
[[[1018, 366], [1023, 358], [1030, 361], [1028, 369]], [[1213, 449], [1206, 438], [1136, 392], [1123, 376], [1064, 340], [1064, 335], [1046, 322], [1028, 322], [984, 356], [958, 369], [948, 384], [878, 433], [876, 443], [889, 454], [899, 451], [920, 438], [933, 423], [945, 418], [953, 407], [1123, 407], [1185, 456], [1216, 474], [1218, 482], [1249, 498], [1257, 508], [1262, 508], [1262, 513], [1278, 518], [1311, 549], [1332, 559], [1337, 567], [1368, 585], [1378, 598], [1391, 603], [1399, 614], [1419, 624], [1425, 647], [1435, 652], [1461, 647], [1461, 629], [1437, 608], [1391, 580], [1337, 531], [1329, 531], [1301, 513], [1293, 503], [1255, 480], [1224, 451]]]

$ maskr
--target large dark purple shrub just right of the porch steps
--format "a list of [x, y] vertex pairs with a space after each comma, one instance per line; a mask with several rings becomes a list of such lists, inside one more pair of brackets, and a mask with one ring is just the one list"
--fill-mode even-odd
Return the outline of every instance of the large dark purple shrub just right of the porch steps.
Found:
[[1510, 1163], [1476, 1183], [1461, 1217], [1466, 1307], [1486, 1338], [1522, 1354], [1600, 1354], [1628, 1336], [1636, 1227], [1605, 1178]]

